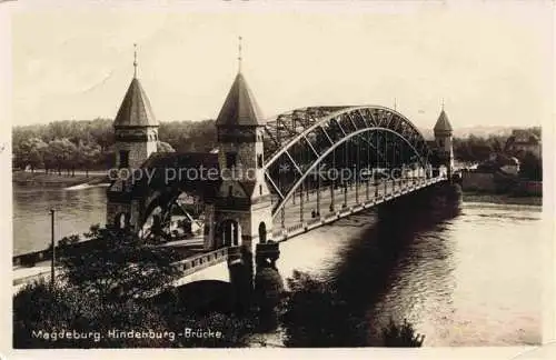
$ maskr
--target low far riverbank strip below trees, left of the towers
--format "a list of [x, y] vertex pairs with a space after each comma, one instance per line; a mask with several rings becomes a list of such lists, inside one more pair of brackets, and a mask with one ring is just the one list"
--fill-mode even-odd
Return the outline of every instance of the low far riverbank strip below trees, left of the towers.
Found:
[[101, 184], [108, 183], [105, 173], [90, 173], [87, 177], [85, 173], [76, 173], [72, 176], [58, 173], [43, 173], [43, 172], [29, 172], [29, 171], [13, 171], [12, 182], [19, 186], [40, 186], [53, 188], [69, 188], [80, 184]]

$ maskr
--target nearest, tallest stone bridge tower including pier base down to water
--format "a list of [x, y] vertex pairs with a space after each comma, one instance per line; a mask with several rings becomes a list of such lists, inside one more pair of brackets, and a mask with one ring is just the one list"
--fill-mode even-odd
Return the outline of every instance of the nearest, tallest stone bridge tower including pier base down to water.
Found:
[[216, 120], [221, 183], [212, 213], [206, 213], [212, 220], [206, 223], [215, 227], [206, 233], [214, 234], [216, 247], [228, 247], [230, 282], [239, 309], [254, 301], [255, 263], [257, 271], [259, 266], [275, 267], [279, 256], [278, 243], [268, 242], [272, 203], [265, 181], [264, 126], [240, 68]]

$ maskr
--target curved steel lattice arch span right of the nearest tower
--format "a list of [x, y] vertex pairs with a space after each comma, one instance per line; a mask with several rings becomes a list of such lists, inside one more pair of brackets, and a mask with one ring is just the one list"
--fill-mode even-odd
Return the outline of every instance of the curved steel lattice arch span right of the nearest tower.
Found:
[[316, 169], [357, 173], [361, 169], [427, 169], [431, 156], [409, 119], [379, 106], [297, 109], [268, 121], [265, 130], [265, 174], [276, 198], [274, 216], [298, 191], [322, 182], [338, 184], [336, 179], [310, 177]]

